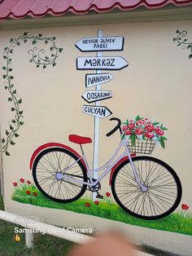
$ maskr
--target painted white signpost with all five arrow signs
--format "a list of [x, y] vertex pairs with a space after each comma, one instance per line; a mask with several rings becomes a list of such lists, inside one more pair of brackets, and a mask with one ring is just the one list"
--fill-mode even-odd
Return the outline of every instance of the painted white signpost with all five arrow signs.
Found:
[[[99, 120], [111, 115], [111, 110], [100, 106], [100, 101], [112, 97], [111, 90], [101, 90], [101, 85], [110, 82], [114, 77], [111, 73], [102, 73], [102, 70], [120, 70], [129, 65], [121, 56], [103, 57], [102, 51], [123, 51], [124, 37], [103, 37], [103, 31], [98, 30], [97, 38], [83, 38], [76, 42], [80, 51], [96, 51], [94, 57], [77, 57], [77, 70], [96, 70], [96, 73], [85, 75], [85, 87], [95, 86], [95, 90], [86, 90], [81, 96], [88, 103], [94, 105], [83, 105], [83, 113], [94, 116], [94, 170], [98, 168], [98, 142], [99, 142]], [[98, 179], [98, 173], [94, 172], [94, 179]], [[93, 192], [93, 200], [97, 197]]]

